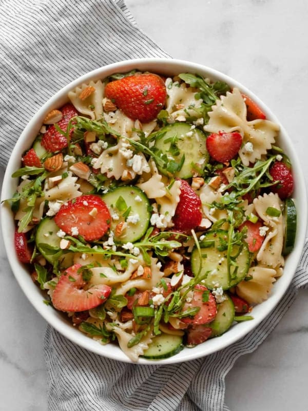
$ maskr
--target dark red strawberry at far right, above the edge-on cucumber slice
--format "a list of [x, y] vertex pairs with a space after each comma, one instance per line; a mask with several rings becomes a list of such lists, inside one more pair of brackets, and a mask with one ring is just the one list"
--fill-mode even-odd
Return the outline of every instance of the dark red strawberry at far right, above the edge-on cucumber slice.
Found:
[[277, 193], [279, 197], [284, 200], [291, 197], [294, 189], [294, 180], [291, 170], [282, 161], [275, 161], [269, 174], [273, 177], [274, 181], [279, 181], [276, 185], [271, 187], [274, 193]]

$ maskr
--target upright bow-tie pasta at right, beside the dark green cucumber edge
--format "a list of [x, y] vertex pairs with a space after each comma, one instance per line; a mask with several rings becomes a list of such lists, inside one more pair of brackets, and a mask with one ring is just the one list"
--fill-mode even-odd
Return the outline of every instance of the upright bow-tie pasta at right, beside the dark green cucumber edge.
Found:
[[[264, 267], [276, 268], [284, 265], [284, 258], [281, 255], [283, 248], [283, 218], [281, 201], [277, 194], [263, 194], [254, 199], [256, 213], [264, 221], [268, 228], [263, 244], [258, 251], [257, 260]], [[279, 217], [268, 215], [266, 210], [271, 207], [280, 211]]]

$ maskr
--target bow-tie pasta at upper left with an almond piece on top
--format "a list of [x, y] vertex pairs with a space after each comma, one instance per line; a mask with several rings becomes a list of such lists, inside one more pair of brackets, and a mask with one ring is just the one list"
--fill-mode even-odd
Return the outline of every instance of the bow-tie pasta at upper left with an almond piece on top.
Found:
[[[87, 87], [94, 90], [86, 98], [80, 98]], [[105, 85], [101, 80], [83, 83], [68, 93], [68, 97], [79, 113], [89, 116], [92, 120], [97, 120], [103, 116], [103, 96]]]

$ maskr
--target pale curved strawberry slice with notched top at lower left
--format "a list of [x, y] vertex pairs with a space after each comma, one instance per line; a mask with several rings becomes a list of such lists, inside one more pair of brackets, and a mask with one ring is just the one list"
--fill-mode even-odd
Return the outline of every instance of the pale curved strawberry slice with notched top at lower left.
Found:
[[85, 311], [103, 304], [108, 298], [111, 287], [104, 284], [84, 289], [86, 282], [78, 273], [81, 264], [75, 264], [61, 275], [52, 293], [52, 304], [60, 311]]

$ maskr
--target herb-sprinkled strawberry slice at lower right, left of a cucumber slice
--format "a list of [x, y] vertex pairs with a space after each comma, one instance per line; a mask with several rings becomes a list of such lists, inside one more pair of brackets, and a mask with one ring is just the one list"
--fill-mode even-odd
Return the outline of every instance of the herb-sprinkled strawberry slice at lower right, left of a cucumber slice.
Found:
[[[197, 285], [194, 290], [194, 296], [190, 303], [185, 303], [183, 311], [188, 310], [189, 308], [200, 307], [200, 310], [194, 317], [183, 317], [181, 321], [186, 324], [207, 324], [215, 319], [217, 314], [217, 306], [214, 295], [208, 291], [205, 286]], [[204, 298], [206, 296], [206, 298]], [[207, 300], [207, 301], [203, 301]]]

